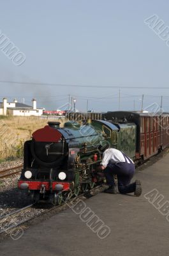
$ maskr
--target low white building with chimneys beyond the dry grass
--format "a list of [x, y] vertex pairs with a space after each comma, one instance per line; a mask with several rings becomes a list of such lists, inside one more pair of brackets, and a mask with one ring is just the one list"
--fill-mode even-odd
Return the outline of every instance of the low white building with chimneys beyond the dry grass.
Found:
[[13, 115], [13, 116], [41, 116], [43, 114], [43, 108], [36, 108], [36, 99], [32, 100], [33, 106], [29, 106], [23, 103], [13, 100], [13, 102], [7, 102], [4, 98], [3, 102], [0, 102], [0, 115]]

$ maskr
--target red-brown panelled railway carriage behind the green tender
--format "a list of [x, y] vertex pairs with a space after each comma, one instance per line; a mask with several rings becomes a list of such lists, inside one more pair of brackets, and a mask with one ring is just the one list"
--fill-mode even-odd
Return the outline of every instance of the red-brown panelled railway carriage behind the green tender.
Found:
[[135, 159], [145, 160], [169, 145], [169, 115], [153, 115], [130, 111], [112, 111], [104, 114], [106, 120], [136, 124]]

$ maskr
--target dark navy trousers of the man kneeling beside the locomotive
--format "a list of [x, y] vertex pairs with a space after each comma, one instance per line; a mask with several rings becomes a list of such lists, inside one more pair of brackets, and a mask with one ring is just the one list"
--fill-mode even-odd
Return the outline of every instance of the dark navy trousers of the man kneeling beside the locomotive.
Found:
[[131, 179], [135, 174], [135, 164], [133, 163], [115, 163], [108, 164], [104, 170], [107, 184], [114, 186], [114, 175], [117, 175], [118, 189], [122, 194], [132, 193], [135, 191], [135, 182], [131, 183]]

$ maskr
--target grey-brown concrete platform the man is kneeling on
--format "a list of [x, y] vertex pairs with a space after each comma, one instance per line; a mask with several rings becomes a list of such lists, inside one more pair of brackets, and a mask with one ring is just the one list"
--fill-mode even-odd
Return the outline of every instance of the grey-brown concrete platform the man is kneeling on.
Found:
[[138, 172], [136, 179], [142, 180], [140, 197], [100, 193], [85, 200], [87, 207], [110, 227], [105, 239], [100, 239], [79, 214], [68, 209], [29, 228], [17, 241], [3, 241], [0, 255], [168, 255], [169, 222], [144, 195], [158, 189], [164, 196], [163, 203], [169, 200], [169, 154]]

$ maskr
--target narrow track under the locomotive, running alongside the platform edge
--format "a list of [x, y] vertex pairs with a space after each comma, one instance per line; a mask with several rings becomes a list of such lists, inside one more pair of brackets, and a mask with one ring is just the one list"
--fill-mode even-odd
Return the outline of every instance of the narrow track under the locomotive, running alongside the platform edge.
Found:
[[[97, 192], [97, 189], [99, 189], [98, 192]], [[105, 189], [104, 186], [96, 186], [95, 188], [90, 190], [90, 193], [93, 193], [94, 195], [96, 195], [99, 192], [103, 191], [104, 189]], [[96, 192], [96, 193], [94, 193], [94, 192]], [[51, 207], [50, 209], [47, 209], [47, 210], [33, 208], [33, 206], [36, 205], [36, 203], [34, 203], [34, 204], [31, 204], [31, 205], [27, 205], [24, 208], [18, 209], [17, 211], [11, 212], [11, 213], [7, 214], [6, 216], [2, 216], [0, 218], [0, 234], [5, 234], [5, 233], [8, 234], [8, 233], [10, 233], [9, 232], [10, 230], [15, 229], [15, 228], [23, 225], [24, 223], [27, 223], [28, 221], [34, 220], [35, 218], [38, 218], [39, 216], [42, 216], [43, 214], [47, 214], [48, 212], [52, 212], [54, 209], [58, 209], [58, 210], [61, 211], [62, 209], [64, 209], [65, 206], [71, 207], [71, 205], [72, 205], [71, 203], [73, 201], [77, 202], [77, 199], [82, 198], [83, 196], [85, 196], [87, 198], [87, 193], [82, 193], [82, 194], [80, 194], [78, 196], [75, 196], [72, 199], [68, 200], [66, 203], [64, 202], [61, 205], [56, 205], [56, 206]], [[33, 209], [33, 211], [34, 211], [33, 216], [31, 216], [29, 218], [25, 218], [23, 213], [25, 212], [25, 213], [30, 214], [29, 211], [31, 209]], [[15, 218], [17, 218], [18, 221], [15, 220]], [[4, 223], [4, 225], [2, 225], [3, 223]]]

